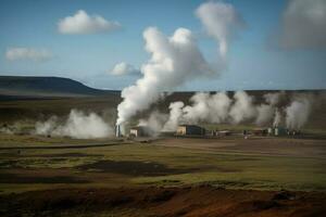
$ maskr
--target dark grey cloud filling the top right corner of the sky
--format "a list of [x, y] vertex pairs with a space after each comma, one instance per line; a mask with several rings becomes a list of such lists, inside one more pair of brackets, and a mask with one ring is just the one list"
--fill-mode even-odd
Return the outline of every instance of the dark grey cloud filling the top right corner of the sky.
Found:
[[326, 47], [326, 1], [290, 0], [280, 27], [283, 48]]

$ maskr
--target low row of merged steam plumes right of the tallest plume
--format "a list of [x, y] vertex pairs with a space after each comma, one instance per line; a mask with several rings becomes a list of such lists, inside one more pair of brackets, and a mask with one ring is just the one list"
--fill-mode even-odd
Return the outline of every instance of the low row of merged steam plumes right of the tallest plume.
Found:
[[[225, 92], [198, 92], [190, 98], [191, 105], [170, 104], [170, 117], [163, 131], [174, 131], [179, 124], [239, 124], [253, 122], [258, 126], [278, 127], [286, 120], [289, 129], [300, 129], [312, 108], [312, 95], [296, 94], [285, 108], [279, 107], [285, 92], [266, 93], [264, 102], [254, 104], [254, 97], [237, 91], [230, 99]], [[149, 125], [150, 127], [150, 125]]]

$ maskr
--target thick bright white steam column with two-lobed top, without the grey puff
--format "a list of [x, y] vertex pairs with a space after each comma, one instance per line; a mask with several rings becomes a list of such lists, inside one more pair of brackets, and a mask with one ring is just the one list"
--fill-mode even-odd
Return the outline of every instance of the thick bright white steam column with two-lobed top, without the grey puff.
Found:
[[172, 37], [166, 37], [150, 27], [145, 30], [143, 38], [146, 50], [152, 56], [141, 67], [143, 77], [122, 91], [124, 100], [117, 106], [117, 125], [148, 108], [163, 90], [174, 89], [193, 77], [213, 74], [190, 30], [178, 28]]

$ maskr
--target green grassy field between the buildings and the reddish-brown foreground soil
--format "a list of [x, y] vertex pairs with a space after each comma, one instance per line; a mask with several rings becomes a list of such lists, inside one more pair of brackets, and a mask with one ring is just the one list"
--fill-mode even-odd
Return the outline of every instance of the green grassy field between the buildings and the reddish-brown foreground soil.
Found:
[[[11, 136], [18, 142], [9, 146], [3, 142], [9, 137], [1, 136], [2, 193], [66, 187], [203, 183], [228, 189], [326, 190], [324, 140], [252, 138], [248, 141], [229, 137], [80, 143], [32, 136], [29, 139], [34, 140], [28, 141], [24, 136]], [[17, 149], [7, 149], [14, 146]]]

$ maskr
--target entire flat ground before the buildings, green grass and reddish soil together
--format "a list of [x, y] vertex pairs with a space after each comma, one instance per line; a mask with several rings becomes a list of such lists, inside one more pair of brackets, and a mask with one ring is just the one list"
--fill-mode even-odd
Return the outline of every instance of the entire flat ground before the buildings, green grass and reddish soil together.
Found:
[[0, 135], [1, 216], [324, 216], [317, 137]]

